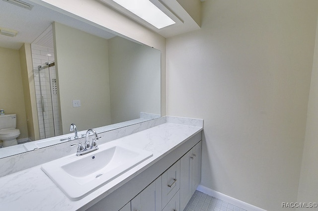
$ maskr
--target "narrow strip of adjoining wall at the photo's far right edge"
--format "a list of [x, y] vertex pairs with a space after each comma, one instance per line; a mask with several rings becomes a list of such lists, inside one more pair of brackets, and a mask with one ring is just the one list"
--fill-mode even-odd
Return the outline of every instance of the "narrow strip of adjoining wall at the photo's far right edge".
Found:
[[[318, 27], [317, 27], [318, 29]], [[318, 31], [308, 102], [306, 136], [297, 202], [316, 202], [318, 199]], [[310, 210], [310, 209], [307, 209]], [[317, 208], [312, 209], [317, 210]]]

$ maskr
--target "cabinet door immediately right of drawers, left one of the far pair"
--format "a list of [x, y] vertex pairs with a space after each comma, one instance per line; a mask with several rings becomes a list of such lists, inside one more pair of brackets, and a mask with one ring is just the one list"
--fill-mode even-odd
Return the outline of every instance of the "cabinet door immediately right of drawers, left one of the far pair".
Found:
[[180, 159], [180, 210], [183, 211], [192, 196], [192, 150]]

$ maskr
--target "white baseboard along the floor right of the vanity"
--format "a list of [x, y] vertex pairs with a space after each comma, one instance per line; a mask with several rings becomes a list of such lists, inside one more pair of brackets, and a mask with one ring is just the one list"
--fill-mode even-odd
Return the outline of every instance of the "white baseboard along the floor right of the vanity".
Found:
[[212, 197], [218, 198], [218, 199], [220, 199], [222, 201], [225, 201], [227, 203], [230, 203], [232, 205], [235, 205], [235, 206], [237, 206], [239, 208], [247, 210], [247, 211], [265, 211], [265, 210], [263, 210], [261, 208], [258, 208], [258, 207], [255, 207], [253, 205], [247, 204], [247, 203], [242, 202], [242, 201], [240, 201], [238, 199], [232, 198], [230, 196], [227, 196], [225, 194], [222, 194], [220, 192], [217, 192], [215, 190], [207, 188], [207, 187], [205, 187], [203, 185], [199, 185], [197, 190], [202, 192], [202, 193], [208, 194], [208, 195], [210, 195]]

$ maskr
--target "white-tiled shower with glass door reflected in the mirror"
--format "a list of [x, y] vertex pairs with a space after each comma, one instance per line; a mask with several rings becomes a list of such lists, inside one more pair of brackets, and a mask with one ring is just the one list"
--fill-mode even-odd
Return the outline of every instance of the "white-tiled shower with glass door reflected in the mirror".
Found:
[[[38, 70], [39, 65], [45, 65], [45, 62], [52, 63], [54, 61], [54, 49], [42, 46], [31, 45], [33, 74], [35, 83], [35, 94], [37, 102], [38, 120], [40, 128], [40, 138], [49, 138], [62, 134], [58, 95], [56, 85], [55, 66]], [[50, 75], [49, 75], [50, 74]], [[51, 78], [51, 81], [50, 81]], [[42, 96], [44, 103], [44, 112], [42, 110], [40, 80], [42, 88]], [[52, 96], [52, 97], [51, 97]], [[53, 103], [52, 103], [53, 100]], [[52, 107], [53, 105], [53, 107]], [[53, 118], [54, 117], [54, 118]]]

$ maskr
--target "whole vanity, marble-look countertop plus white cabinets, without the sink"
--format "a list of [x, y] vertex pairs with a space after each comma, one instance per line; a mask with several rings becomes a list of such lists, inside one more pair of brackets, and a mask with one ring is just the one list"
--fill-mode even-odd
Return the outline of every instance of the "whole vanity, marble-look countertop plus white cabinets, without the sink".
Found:
[[[47, 160], [1, 177], [0, 207], [6, 211], [183, 210], [201, 180], [202, 130], [202, 119], [164, 116], [112, 131], [131, 131], [117, 139], [107, 140], [108, 132], [99, 133], [101, 149], [116, 143], [152, 156], [80, 199], [68, 197], [41, 169], [54, 161]], [[68, 156], [75, 156], [76, 149], [71, 149]]]

